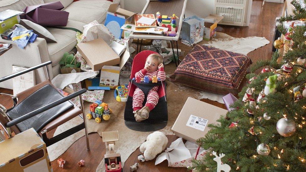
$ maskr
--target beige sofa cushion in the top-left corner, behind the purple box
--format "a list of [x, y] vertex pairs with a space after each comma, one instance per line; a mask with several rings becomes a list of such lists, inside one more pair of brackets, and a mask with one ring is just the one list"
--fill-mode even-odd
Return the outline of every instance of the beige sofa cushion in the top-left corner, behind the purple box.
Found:
[[[15, 2], [15, 3], [12, 3]], [[22, 11], [24, 8], [30, 5], [38, 5], [45, 3], [43, 0], [4, 0], [0, 1], [0, 12], [7, 9], [12, 9], [16, 11]]]

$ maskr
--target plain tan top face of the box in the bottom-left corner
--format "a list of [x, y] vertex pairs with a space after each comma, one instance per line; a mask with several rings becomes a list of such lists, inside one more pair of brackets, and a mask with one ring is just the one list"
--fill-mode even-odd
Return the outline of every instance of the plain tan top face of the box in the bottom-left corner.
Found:
[[45, 142], [36, 133], [34, 128], [30, 128], [12, 138], [0, 142], [0, 164], [7, 163], [9, 160], [27, 153], [44, 145]]

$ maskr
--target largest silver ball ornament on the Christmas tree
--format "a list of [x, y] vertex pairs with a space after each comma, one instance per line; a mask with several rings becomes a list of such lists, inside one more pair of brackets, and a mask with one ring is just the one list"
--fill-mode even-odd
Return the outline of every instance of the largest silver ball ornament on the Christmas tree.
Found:
[[283, 117], [277, 121], [276, 130], [280, 135], [284, 137], [292, 136], [296, 131], [295, 122], [293, 120], [287, 119], [286, 117]]

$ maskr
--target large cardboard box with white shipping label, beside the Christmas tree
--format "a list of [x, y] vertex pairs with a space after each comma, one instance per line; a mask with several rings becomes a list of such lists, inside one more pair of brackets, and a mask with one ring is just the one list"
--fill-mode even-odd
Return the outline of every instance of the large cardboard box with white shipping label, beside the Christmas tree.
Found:
[[188, 97], [171, 130], [178, 137], [195, 143], [208, 132], [208, 124], [216, 123], [216, 120], [227, 112], [220, 107]]

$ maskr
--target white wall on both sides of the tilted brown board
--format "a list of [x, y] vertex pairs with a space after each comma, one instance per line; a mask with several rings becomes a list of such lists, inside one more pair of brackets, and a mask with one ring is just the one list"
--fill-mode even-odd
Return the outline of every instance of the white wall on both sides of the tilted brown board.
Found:
[[[146, 0], [121, 0], [124, 1], [124, 9], [141, 13], [145, 7]], [[175, 1], [175, 0], [172, 0]], [[215, 0], [188, 0], [185, 17], [196, 15], [201, 18], [214, 13]], [[158, 9], [156, 9], [156, 12]]]

